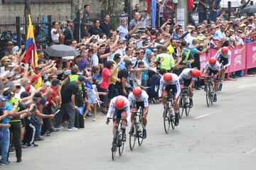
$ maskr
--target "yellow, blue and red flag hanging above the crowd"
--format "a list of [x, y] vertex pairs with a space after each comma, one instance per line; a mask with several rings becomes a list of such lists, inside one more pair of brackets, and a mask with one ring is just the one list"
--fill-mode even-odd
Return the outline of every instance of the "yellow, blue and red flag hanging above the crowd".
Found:
[[28, 15], [28, 33], [27, 33], [27, 39], [26, 39], [26, 57], [24, 62], [25, 63], [31, 63], [34, 67], [37, 67], [38, 65], [38, 53], [37, 53], [37, 47], [36, 42], [33, 34], [33, 25], [31, 22], [31, 16]]

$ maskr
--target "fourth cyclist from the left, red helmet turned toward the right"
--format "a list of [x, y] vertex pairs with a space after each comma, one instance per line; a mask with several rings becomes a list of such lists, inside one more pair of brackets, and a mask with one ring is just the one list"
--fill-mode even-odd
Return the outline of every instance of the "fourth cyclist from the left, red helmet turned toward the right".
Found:
[[183, 69], [181, 74], [178, 76], [178, 79], [180, 80], [180, 83], [183, 84], [183, 86], [188, 87], [188, 93], [189, 93], [189, 107], [193, 107], [193, 84], [196, 80], [196, 77], [200, 77], [201, 72], [198, 69]]

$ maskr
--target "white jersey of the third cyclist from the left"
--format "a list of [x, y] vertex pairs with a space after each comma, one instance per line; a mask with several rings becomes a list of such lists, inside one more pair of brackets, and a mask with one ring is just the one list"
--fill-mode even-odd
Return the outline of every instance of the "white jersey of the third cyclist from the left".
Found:
[[176, 86], [177, 93], [176, 93], [175, 98], [178, 98], [178, 96], [181, 94], [181, 85], [179, 83], [178, 76], [176, 74], [173, 74], [173, 73], [171, 73], [171, 76], [172, 76], [172, 79], [171, 79], [171, 83], [169, 83], [169, 84], [166, 84], [166, 82], [164, 81], [164, 77], [162, 77], [160, 79], [159, 97], [162, 96], [164, 86], [166, 86], [166, 85], [175, 85]]

